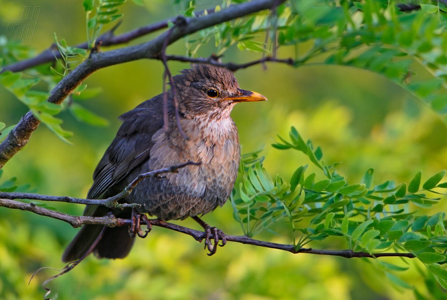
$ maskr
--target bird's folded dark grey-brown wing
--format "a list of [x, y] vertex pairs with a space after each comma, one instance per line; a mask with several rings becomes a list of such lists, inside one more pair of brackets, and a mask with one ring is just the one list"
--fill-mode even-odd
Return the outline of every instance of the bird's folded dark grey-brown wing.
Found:
[[88, 199], [99, 199], [134, 168], [149, 159], [152, 135], [163, 127], [162, 96], [147, 100], [120, 116], [123, 121], [115, 139], [93, 174]]

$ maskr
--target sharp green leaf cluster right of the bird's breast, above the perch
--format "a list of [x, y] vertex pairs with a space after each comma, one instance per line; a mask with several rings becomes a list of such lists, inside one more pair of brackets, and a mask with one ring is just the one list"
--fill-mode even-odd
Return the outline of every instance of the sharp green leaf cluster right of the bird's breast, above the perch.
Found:
[[[239, 183], [230, 200], [233, 217], [245, 234], [253, 236], [262, 230], [276, 233], [270, 227], [286, 222], [296, 250], [311, 241], [340, 237], [353, 251], [410, 252], [427, 265], [441, 286], [447, 287], [447, 277], [439, 271], [444, 270], [439, 264], [447, 262], [446, 214], [418, 215], [417, 208], [441, 200], [428, 193], [445, 195], [440, 192], [447, 189], [447, 182], [441, 183], [445, 170], [431, 176], [422, 187], [421, 171], [408, 187], [393, 181], [373, 185], [373, 169], [367, 170], [359, 183], [349, 184], [337, 173], [337, 164], [325, 165], [321, 148], [310, 140], [304, 142], [294, 127], [290, 141], [279, 139], [273, 147], [303, 153], [321, 173], [306, 174], [305, 165], [288, 181], [279, 175], [273, 180], [262, 167], [264, 158], [259, 153], [242, 156]], [[324, 179], [317, 180], [320, 176]], [[398, 271], [397, 267], [383, 266], [386, 272]], [[392, 281], [393, 276], [388, 274]], [[404, 286], [397, 279], [394, 282]]]

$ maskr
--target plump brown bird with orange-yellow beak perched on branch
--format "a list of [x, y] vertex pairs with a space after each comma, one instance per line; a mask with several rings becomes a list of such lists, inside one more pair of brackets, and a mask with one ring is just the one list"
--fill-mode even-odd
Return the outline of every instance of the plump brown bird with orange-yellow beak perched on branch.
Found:
[[[240, 146], [230, 112], [236, 103], [267, 99], [240, 89], [230, 70], [212, 64], [192, 64], [171, 77], [169, 85], [168, 91], [119, 117], [123, 123], [93, 173], [87, 198], [114, 196], [142, 173], [200, 163], [142, 180], [124, 199], [140, 206], [113, 213], [121, 218], [149, 214], [164, 221], [192, 217], [205, 228], [208, 224], [198, 216], [224, 205], [236, 180]], [[110, 210], [87, 205], [84, 215], [104, 216]], [[134, 237], [124, 226], [83, 225], [62, 261], [73, 262], [90, 252], [97, 258], [125, 258]]]

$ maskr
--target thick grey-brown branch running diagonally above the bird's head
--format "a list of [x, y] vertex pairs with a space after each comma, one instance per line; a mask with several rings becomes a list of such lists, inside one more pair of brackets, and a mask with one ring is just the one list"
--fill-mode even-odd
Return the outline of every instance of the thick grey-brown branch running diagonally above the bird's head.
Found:
[[[108, 52], [92, 52], [90, 56], [77, 66], [73, 72], [62, 79], [51, 91], [49, 102], [61, 104], [72, 92], [93, 72], [116, 64], [130, 62], [143, 58], [157, 58], [167, 40], [172, 44], [176, 40], [197, 32], [199, 30], [232, 20], [245, 15], [269, 9], [285, 0], [256, 0], [230, 6], [213, 14], [203, 15], [197, 18], [177, 17], [175, 23], [178, 26], [172, 28], [158, 37], [146, 43], [128, 46]], [[0, 169], [28, 142], [32, 132], [37, 128], [40, 121], [28, 112], [11, 130], [5, 140], [0, 144]]]

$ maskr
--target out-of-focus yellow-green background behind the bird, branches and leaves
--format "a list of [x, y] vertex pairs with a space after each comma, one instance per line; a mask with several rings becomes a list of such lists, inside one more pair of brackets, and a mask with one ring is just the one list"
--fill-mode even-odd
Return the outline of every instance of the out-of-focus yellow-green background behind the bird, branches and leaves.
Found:
[[[218, 3], [201, 1], [200, 8]], [[36, 53], [51, 45], [54, 32], [69, 45], [85, 41], [85, 15], [80, 1], [0, 0], [0, 35], [6, 36], [9, 21], [19, 18], [24, 6], [42, 6], [31, 44]], [[170, 1], [162, 0], [146, 0], [143, 7], [129, 2], [122, 9], [124, 18], [117, 34], [177, 14]], [[213, 51], [214, 45], [210, 44], [200, 50], [200, 55], [209, 56]], [[292, 55], [293, 50], [288, 51], [284, 49], [279, 55]], [[184, 42], [177, 42], [168, 52], [183, 55]], [[223, 60], [245, 62], [258, 57], [234, 47]], [[173, 74], [188, 67], [180, 63], [169, 66]], [[39, 194], [84, 198], [93, 170], [120, 125], [118, 116], [160, 94], [162, 73], [161, 63], [153, 60], [94, 73], [84, 83], [88, 88], [100, 87], [103, 92], [83, 104], [109, 119], [110, 125], [92, 127], [63, 112], [63, 127], [74, 132], [73, 145], [62, 142], [42, 125], [26, 148], [3, 168], [2, 180], [16, 176], [19, 184], [30, 184]], [[424, 77], [422, 69], [420, 73], [417, 76]], [[338, 171], [350, 182], [359, 182], [368, 168], [374, 168], [374, 183], [379, 184], [385, 180], [408, 183], [418, 170], [422, 170], [424, 180], [447, 167], [446, 125], [433, 111], [383, 77], [353, 68], [319, 66], [317, 61], [298, 69], [273, 63], [266, 70], [254, 66], [235, 76], [241, 88], [269, 99], [236, 105], [232, 117], [242, 152], [264, 147], [264, 166], [272, 175], [279, 173], [288, 179], [298, 166], [308, 163], [298, 153], [270, 146], [276, 134], [287, 136], [292, 125], [304, 138], [321, 146], [326, 162], [342, 162]], [[1, 88], [0, 95], [0, 121], [6, 126], [17, 123], [27, 108]], [[83, 205], [49, 206], [71, 214], [83, 210]], [[446, 207], [440, 204], [432, 210]], [[204, 220], [227, 234], [240, 235], [242, 231], [231, 210], [227, 203]], [[177, 223], [199, 229], [191, 220]], [[281, 226], [277, 229], [281, 232]], [[60, 257], [75, 232], [61, 221], [0, 208], [0, 299], [41, 299], [42, 283], [57, 271], [46, 269], [29, 285], [28, 280], [40, 267], [64, 267]], [[285, 230], [283, 237], [266, 233], [256, 238], [291, 243]], [[310, 246], [346, 248], [341, 240], [329, 241], [332, 243], [313, 242]], [[203, 244], [189, 236], [154, 228], [148, 238], [136, 241], [126, 259], [109, 261], [90, 256], [48, 286], [54, 299], [414, 298], [412, 291], [391, 287], [366, 259], [292, 255], [236, 243], [228, 243], [212, 257], [206, 253]], [[388, 261], [403, 264], [400, 259]], [[423, 277], [414, 266], [402, 273], [402, 278], [424, 291]]]

